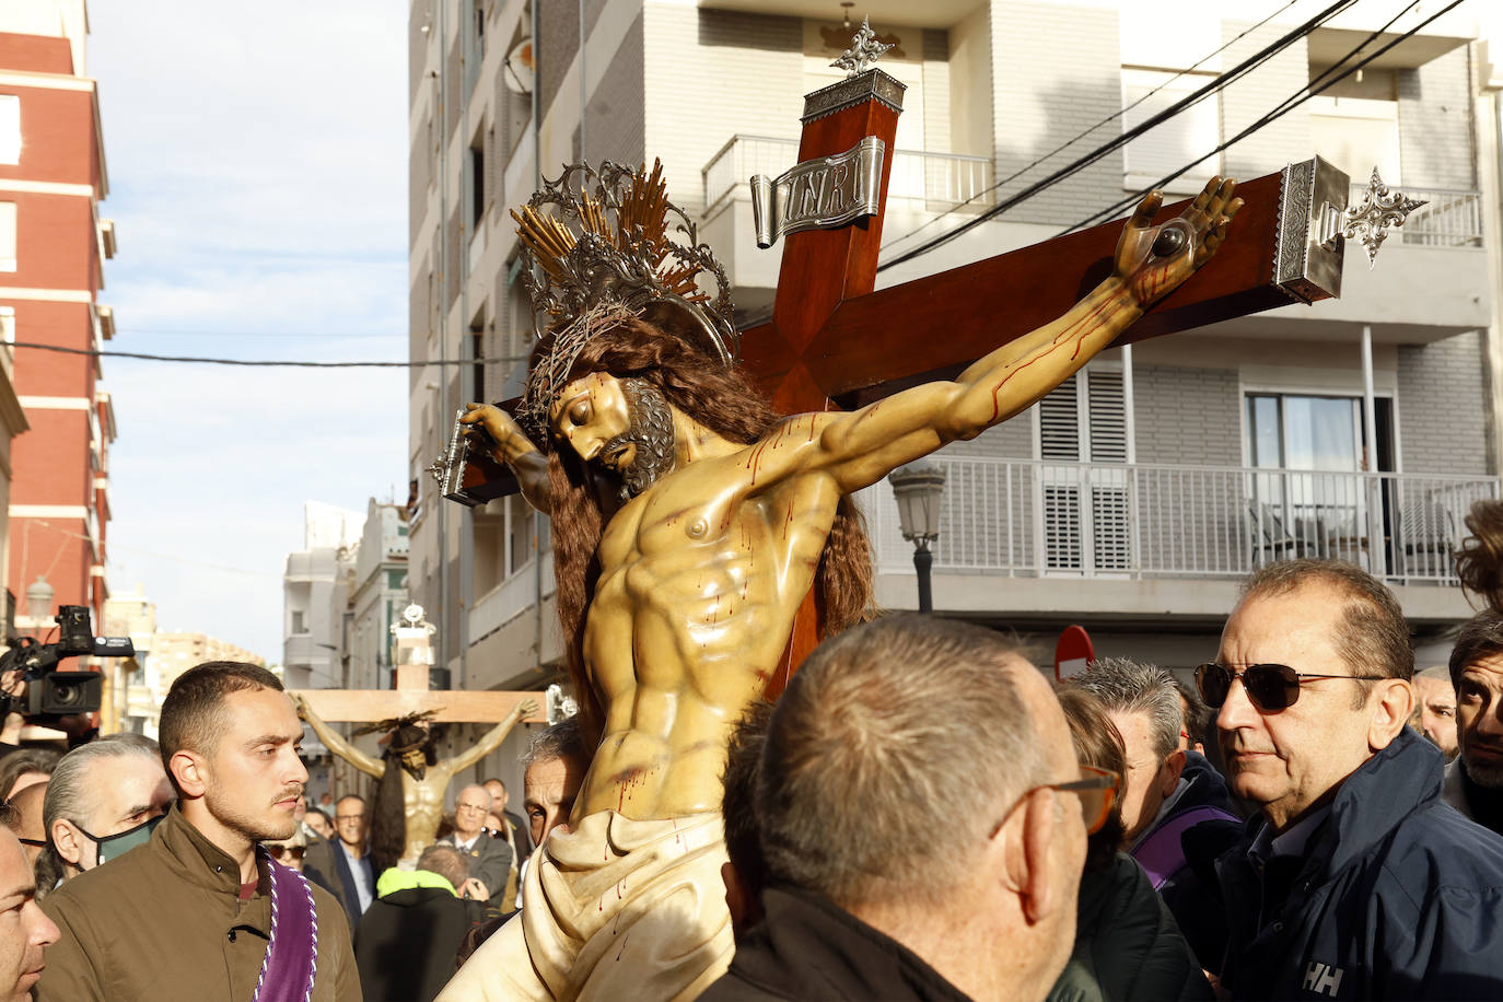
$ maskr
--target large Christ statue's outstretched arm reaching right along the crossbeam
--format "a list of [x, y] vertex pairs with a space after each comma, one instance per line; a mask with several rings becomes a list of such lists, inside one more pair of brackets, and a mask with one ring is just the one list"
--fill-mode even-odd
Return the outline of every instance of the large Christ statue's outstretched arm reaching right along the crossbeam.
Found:
[[1213, 177], [1183, 215], [1157, 227], [1153, 216], [1163, 198], [1157, 192], [1144, 198], [1100, 285], [1058, 320], [1001, 346], [954, 382], [915, 386], [845, 415], [792, 419], [791, 431], [806, 419], [819, 427], [818, 446], [804, 451], [795, 467], [824, 467], [849, 493], [1031, 407], [1216, 254], [1241, 209], [1241, 198], [1232, 198], [1235, 188], [1234, 180]]

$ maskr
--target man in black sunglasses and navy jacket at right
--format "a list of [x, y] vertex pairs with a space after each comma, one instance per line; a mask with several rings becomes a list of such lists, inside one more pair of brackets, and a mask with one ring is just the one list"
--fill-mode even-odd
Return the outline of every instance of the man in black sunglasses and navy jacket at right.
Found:
[[1228, 784], [1261, 808], [1216, 861], [1231, 997], [1503, 990], [1503, 841], [1441, 802], [1413, 672], [1389, 589], [1326, 560], [1255, 571], [1196, 669]]

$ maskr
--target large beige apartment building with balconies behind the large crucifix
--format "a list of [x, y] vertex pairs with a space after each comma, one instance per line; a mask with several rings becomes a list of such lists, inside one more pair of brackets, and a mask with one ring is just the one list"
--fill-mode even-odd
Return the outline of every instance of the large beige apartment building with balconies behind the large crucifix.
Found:
[[[893, 45], [879, 66], [906, 84], [884, 258], [1121, 135], [1317, 5], [1278, 8], [875, 0], [851, 9], [870, 14]], [[1348, 246], [1339, 300], [1108, 352], [1025, 415], [945, 449], [938, 611], [1051, 641], [1079, 622], [1102, 653], [1187, 667], [1214, 652], [1249, 568], [1312, 554], [1390, 581], [1422, 656], [1468, 614], [1449, 548], [1471, 500], [1498, 494], [1491, 388], [1503, 355], [1497, 89], [1483, 29], [1462, 12], [1434, 21], [1205, 158], [1392, 14], [1369, 8], [879, 273], [879, 287], [890, 285], [1048, 239], [1190, 162], [1171, 197], [1211, 173], [1258, 177], [1318, 153], [1351, 176], [1354, 192], [1377, 165], [1428, 201], [1374, 270]], [[442, 623], [440, 656], [457, 682], [531, 688], [559, 656], [544, 520], [519, 497], [476, 509], [442, 502], [424, 473], [464, 401], [520, 391], [531, 314], [507, 210], [562, 164], [661, 158], [670, 197], [699, 221], [753, 326], [773, 300], [780, 249], [756, 248], [747, 180], [795, 162], [803, 95], [840, 75], [828, 63], [854, 27], [840, 14], [806, 0], [412, 3], [410, 353], [449, 365], [416, 368], [410, 382], [410, 581]], [[1398, 21], [1377, 45], [1417, 20]], [[500, 361], [463, 364], [475, 359]], [[912, 547], [891, 490], [873, 487], [861, 503], [878, 601], [911, 608]]]

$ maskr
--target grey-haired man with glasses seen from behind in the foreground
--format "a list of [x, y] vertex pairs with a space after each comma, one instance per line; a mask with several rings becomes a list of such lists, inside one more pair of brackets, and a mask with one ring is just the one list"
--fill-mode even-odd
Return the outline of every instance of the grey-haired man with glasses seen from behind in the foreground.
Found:
[[827, 640], [761, 769], [765, 918], [702, 1002], [1048, 994], [1114, 781], [1007, 638], [906, 614]]

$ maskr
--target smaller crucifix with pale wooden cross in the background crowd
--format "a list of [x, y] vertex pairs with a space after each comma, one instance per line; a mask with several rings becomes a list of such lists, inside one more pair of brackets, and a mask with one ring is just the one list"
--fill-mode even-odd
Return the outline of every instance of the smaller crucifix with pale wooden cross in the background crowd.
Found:
[[[379, 786], [370, 829], [371, 861], [377, 873], [400, 859], [416, 859], [431, 846], [443, 819], [449, 781], [500, 747], [517, 721], [535, 718], [537, 693], [443, 693], [428, 690], [433, 661], [422, 608], [409, 605], [397, 637], [397, 688], [391, 691], [301, 690], [290, 693], [298, 714], [319, 741]], [[380, 757], [365, 754], [329, 721], [368, 721], [361, 733], [386, 733]], [[463, 753], [440, 759], [433, 741], [434, 723], [499, 721]]]

